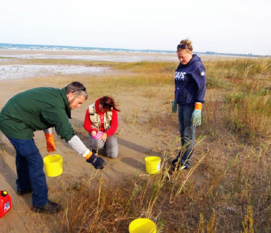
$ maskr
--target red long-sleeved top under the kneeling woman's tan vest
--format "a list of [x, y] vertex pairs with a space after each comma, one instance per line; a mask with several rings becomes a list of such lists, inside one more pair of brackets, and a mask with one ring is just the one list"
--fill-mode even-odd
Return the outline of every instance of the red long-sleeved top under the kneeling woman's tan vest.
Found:
[[[100, 103], [100, 99], [96, 100], [95, 110], [96, 110], [96, 113], [98, 113], [98, 115], [100, 116], [100, 126], [101, 126], [100, 131], [105, 132], [105, 129], [103, 127], [103, 118], [101, 118], [105, 115], [105, 113], [102, 113], [99, 110], [99, 103]], [[89, 119], [89, 109], [87, 108], [87, 112], [85, 114], [84, 128], [89, 133], [91, 133], [92, 131], [97, 131], [97, 129], [92, 128], [91, 125], [92, 125], [92, 123]], [[106, 131], [107, 137], [115, 134], [117, 129], [118, 129], [118, 112], [116, 110], [112, 109], [112, 119], [111, 119], [110, 128]]]

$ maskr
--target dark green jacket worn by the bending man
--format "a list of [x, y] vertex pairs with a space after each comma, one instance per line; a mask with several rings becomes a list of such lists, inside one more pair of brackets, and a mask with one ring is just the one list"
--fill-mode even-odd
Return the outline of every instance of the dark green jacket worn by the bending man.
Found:
[[34, 131], [54, 127], [66, 142], [74, 136], [65, 88], [38, 87], [12, 97], [0, 113], [0, 129], [8, 137], [29, 140]]

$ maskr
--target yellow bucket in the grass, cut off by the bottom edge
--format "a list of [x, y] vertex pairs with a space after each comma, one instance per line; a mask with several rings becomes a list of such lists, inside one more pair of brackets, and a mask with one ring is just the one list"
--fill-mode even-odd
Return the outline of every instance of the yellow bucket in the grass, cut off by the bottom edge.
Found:
[[129, 233], [156, 233], [156, 225], [149, 219], [135, 219], [129, 225]]

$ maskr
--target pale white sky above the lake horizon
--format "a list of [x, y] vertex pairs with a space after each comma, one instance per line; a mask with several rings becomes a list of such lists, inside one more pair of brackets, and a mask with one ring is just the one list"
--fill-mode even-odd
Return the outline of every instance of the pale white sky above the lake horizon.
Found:
[[270, 0], [1, 0], [0, 43], [271, 56]]

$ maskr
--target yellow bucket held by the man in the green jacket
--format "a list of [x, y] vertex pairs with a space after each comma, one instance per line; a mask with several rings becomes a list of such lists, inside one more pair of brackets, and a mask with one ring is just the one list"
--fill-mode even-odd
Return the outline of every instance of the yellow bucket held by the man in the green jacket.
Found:
[[48, 155], [43, 158], [43, 162], [45, 167], [45, 174], [48, 177], [57, 177], [63, 173], [63, 158], [61, 155]]

